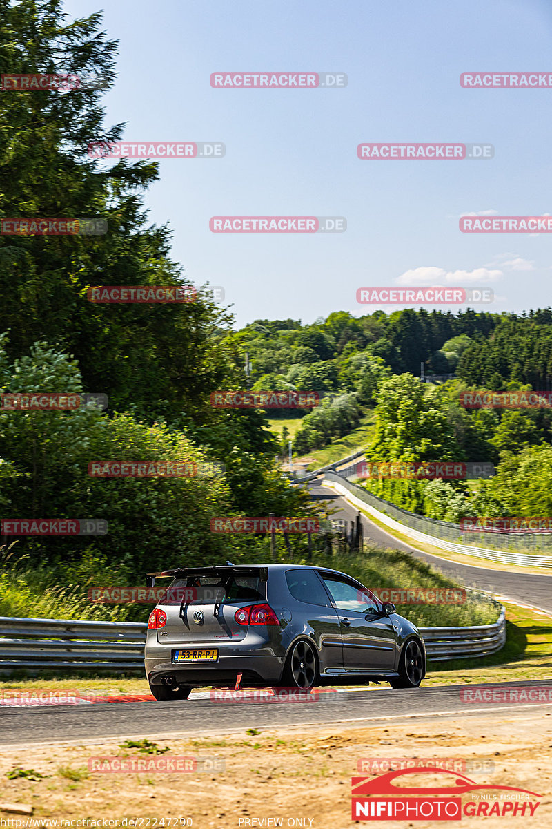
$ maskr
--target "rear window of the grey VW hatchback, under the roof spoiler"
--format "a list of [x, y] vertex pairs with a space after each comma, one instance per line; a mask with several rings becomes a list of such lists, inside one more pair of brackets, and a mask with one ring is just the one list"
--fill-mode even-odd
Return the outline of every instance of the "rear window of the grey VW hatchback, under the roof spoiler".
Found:
[[175, 579], [164, 604], [215, 604], [266, 599], [266, 582], [258, 575], [192, 575]]

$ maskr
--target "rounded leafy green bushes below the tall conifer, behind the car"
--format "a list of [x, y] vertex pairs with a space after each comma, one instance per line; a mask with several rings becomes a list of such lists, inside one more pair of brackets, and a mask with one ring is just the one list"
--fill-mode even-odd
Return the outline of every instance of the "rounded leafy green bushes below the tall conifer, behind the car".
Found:
[[[82, 390], [76, 362], [40, 342], [13, 364], [0, 342], [0, 384], [0, 393]], [[202, 427], [206, 447], [200, 447], [197, 434], [143, 423], [131, 414], [110, 417], [93, 405], [73, 411], [0, 410], [3, 516], [108, 521], [108, 535], [98, 538], [24, 539], [20, 543], [36, 564], [69, 567], [85, 558], [92, 566], [99, 556], [117, 565], [122, 578], [137, 579], [146, 569], [219, 562], [236, 545], [233, 537], [211, 531], [214, 516], [308, 512], [305, 493], [281, 478], [274, 463], [276, 441], [262, 422], [259, 411], [228, 413], [222, 434]], [[265, 432], [263, 443], [259, 436]], [[191, 474], [90, 475], [90, 463], [107, 460], [190, 462]]]

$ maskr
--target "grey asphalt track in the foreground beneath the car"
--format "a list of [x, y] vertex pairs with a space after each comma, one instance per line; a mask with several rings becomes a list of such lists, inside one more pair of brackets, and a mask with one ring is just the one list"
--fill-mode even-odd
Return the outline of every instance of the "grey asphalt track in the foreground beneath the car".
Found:
[[[550, 681], [492, 683], [492, 688], [545, 686]], [[259, 730], [293, 725], [366, 725], [375, 721], [407, 721], [423, 728], [425, 717], [488, 715], [509, 717], [538, 708], [552, 716], [552, 702], [464, 702], [460, 690], [482, 686], [444, 686], [393, 690], [388, 686], [343, 691], [339, 699], [310, 703], [220, 703], [211, 700], [118, 702], [0, 709], [2, 744], [93, 742], [94, 739], [143, 737], [144, 734], [194, 736], [228, 734], [252, 725]]]

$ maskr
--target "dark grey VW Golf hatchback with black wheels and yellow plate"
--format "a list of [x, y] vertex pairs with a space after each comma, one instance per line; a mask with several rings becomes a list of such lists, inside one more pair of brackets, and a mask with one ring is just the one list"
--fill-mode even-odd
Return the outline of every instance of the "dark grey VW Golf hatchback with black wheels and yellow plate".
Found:
[[195, 686], [286, 686], [348, 681], [415, 688], [425, 676], [416, 626], [356, 579], [322, 567], [225, 565], [172, 576], [147, 626], [145, 664], [157, 700]]

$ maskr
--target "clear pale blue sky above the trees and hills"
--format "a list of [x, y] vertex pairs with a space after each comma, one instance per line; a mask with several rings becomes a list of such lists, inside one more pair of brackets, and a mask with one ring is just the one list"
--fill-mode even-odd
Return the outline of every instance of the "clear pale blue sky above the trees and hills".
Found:
[[[98, 0], [68, 0], [81, 17]], [[120, 41], [106, 124], [128, 141], [222, 141], [167, 159], [146, 194], [193, 284], [222, 285], [239, 326], [355, 315], [365, 286], [492, 287], [482, 310], [551, 303], [550, 234], [463, 234], [474, 212], [552, 212], [552, 89], [465, 90], [464, 71], [551, 71], [548, 0], [112, 0]], [[340, 71], [340, 90], [218, 90], [212, 72]], [[361, 161], [358, 143], [486, 142], [491, 160]], [[214, 234], [211, 216], [345, 216], [339, 234]], [[387, 311], [400, 306], [386, 306]], [[444, 308], [443, 306], [441, 306]]]

